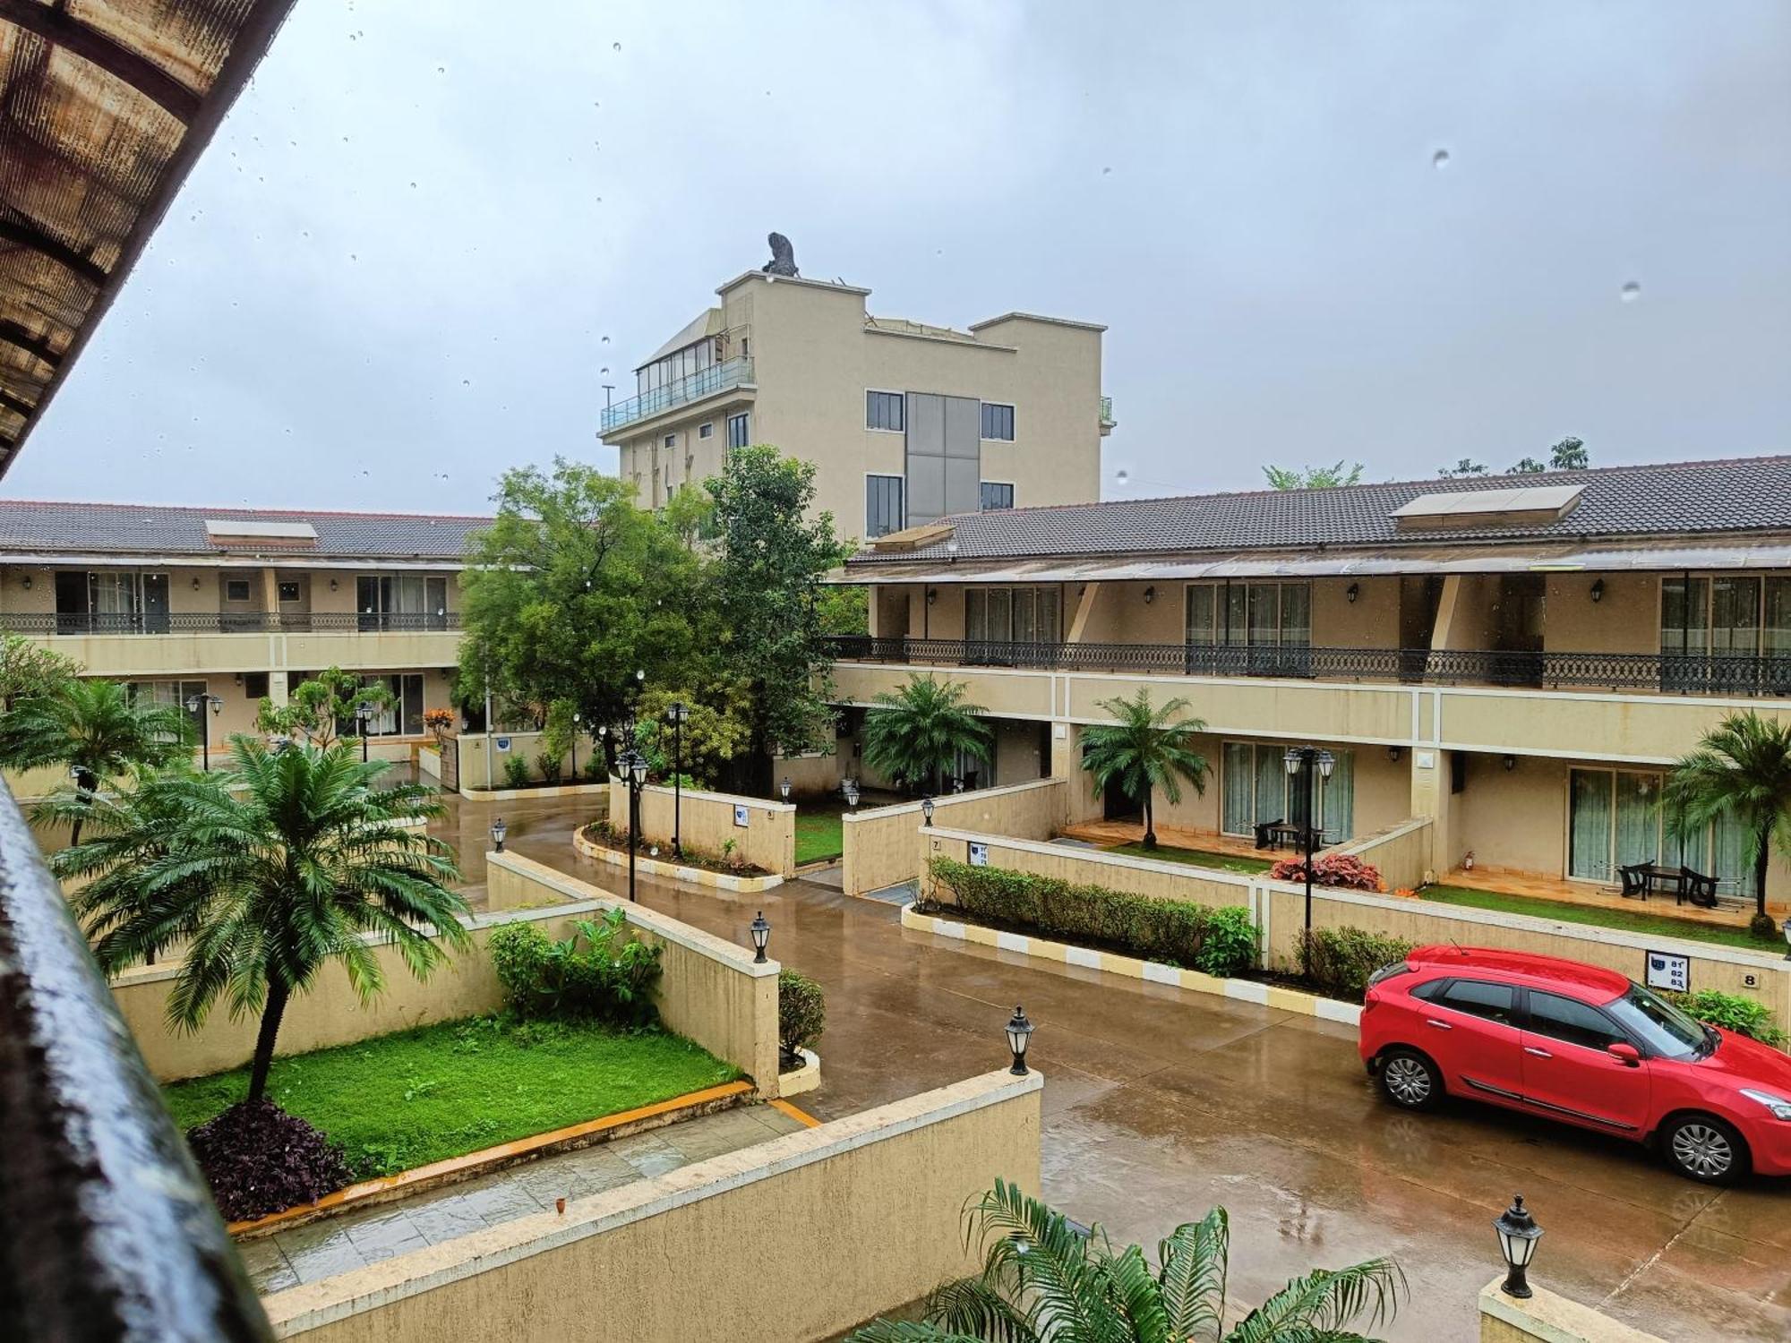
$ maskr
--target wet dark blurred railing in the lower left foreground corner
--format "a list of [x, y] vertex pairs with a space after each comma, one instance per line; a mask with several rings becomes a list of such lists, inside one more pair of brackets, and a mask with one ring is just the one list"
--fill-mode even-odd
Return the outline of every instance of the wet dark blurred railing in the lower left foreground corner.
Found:
[[0, 1338], [272, 1338], [4, 786], [0, 1133]]

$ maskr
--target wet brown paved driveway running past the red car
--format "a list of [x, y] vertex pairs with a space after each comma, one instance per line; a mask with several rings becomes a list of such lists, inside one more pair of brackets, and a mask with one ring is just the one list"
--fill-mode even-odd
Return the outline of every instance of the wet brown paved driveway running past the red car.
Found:
[[[570, 804], [501, 809], [509, 847], [620, 885], [573, 852]], [[489, 806], [455, 813], [458, 834], [484, 836]], [[1005, 1064], [1001, 1026], [1024, 1003], [1046, 1074], [1044, 1194], [1144, 1246], [1223, 1203], [1236, 1300], [1392, 1253], [1411, 1304], [1384, 1336], [1474, 1338], [1474, 1298], [1501, 1268], [1490, 1223], [1522, 1191], [1551, 1289], [1666, 1339], [1791, 1336], [1791, 1182], [1718, 1193], [1524, 1116], [1402, 1116], [1347, 1026], [908, 933], [894, 906], [810, 881], [747, 897], [643, 881], [641, 899], [741, 945], [765, 910], [772, 954], [827, 990], [822, 1087], [799, 1099], [822, 1119]]]

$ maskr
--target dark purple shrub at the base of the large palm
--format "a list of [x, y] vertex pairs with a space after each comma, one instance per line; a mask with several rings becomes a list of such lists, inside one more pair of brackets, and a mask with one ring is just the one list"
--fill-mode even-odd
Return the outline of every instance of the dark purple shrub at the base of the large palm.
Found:
[[342, 1148], [272, 1101], [240, 1101], [186, 1132], [226, 1221], [315, 1203], [349, 1182]]

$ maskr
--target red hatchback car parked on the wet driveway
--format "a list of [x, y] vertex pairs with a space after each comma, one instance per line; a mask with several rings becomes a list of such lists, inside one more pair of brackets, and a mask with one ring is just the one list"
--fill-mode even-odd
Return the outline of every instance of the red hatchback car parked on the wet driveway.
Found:
[[1361, 1056], [1404, 1110], [1465, 1096], [1651, 1142], [1705, 1184], [1791, 1175], [1791, 1058], [1615, 971], [1418, 947], [1368, 981]]

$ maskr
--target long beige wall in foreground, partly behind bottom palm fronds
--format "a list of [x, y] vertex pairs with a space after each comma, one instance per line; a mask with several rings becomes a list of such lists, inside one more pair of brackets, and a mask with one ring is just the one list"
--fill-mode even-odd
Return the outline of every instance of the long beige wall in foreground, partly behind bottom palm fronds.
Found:
[[1041, 1087], [985, 1073], [263, 1304], [315, 1343], [824, 1339], [978, 1268], [964, 1203], [1039, 1191]]

